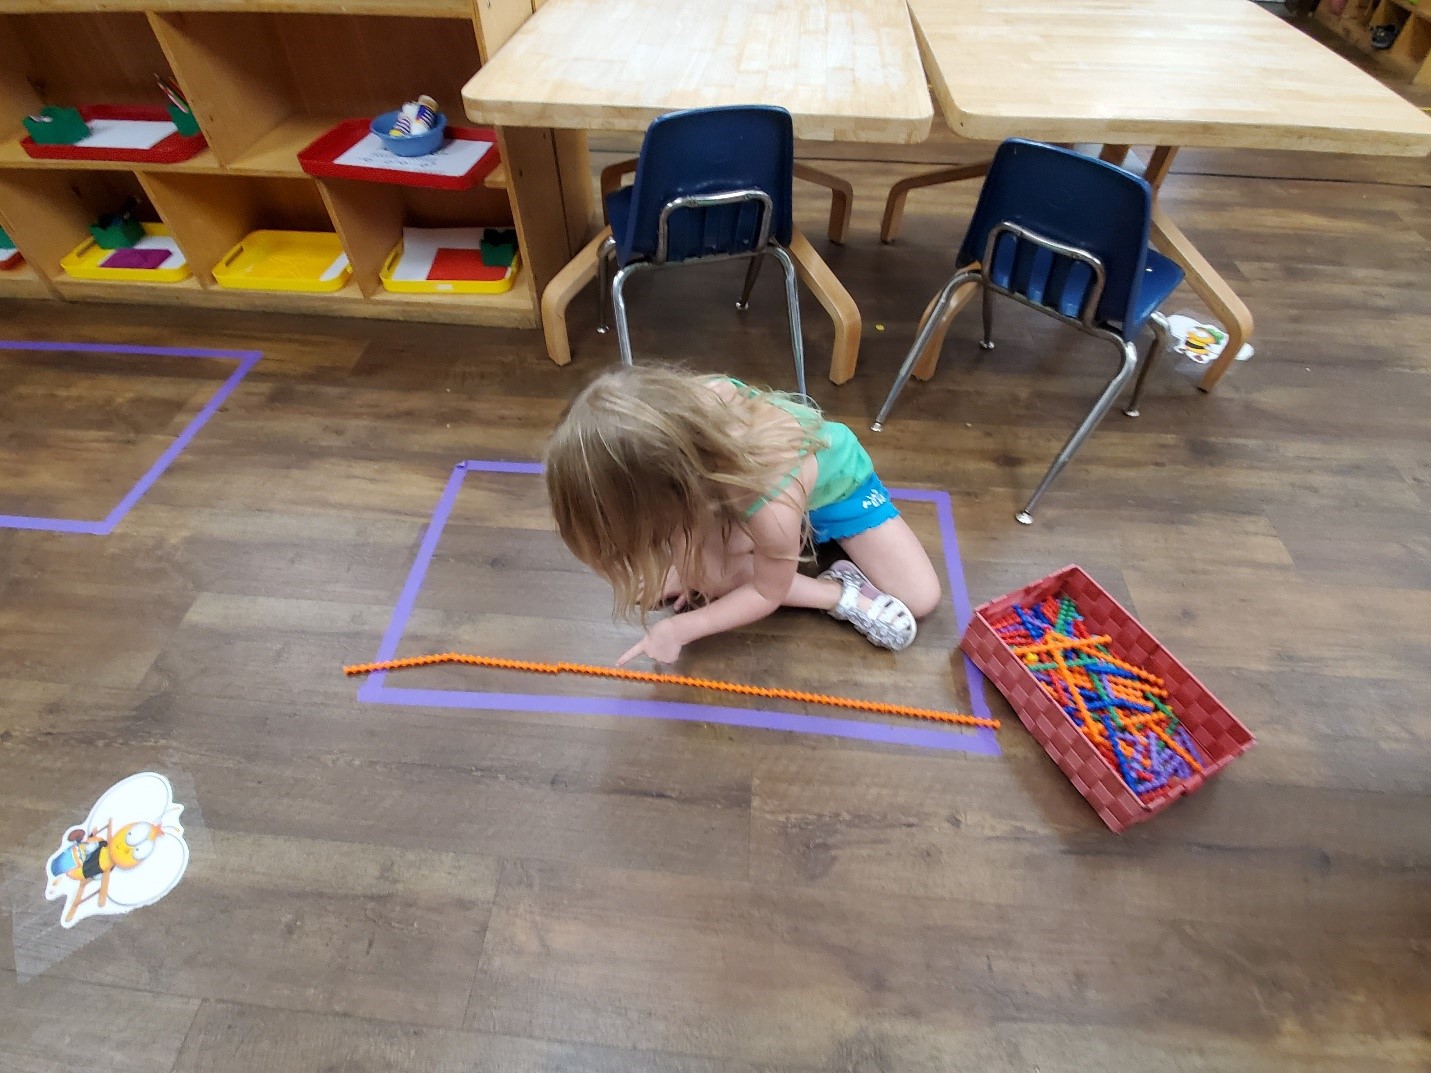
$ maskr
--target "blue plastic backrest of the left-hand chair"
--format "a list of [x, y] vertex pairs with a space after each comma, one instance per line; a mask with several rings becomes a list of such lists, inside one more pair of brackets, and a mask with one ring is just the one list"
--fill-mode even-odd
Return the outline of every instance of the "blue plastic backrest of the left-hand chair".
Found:
[[[631, 213], [625, 233], [615, 236], [617, 259], [625, 265], [633, 258], [655, 258], [661, 210], [668, 202], [730, 190], [768, 195], [768, 235], [788, 243], [794, 153], [794, 127], [781, 107], [741, 104], [660, 116], [641, 143]], [[764, 212], [758, 202], [678, 209], [668, 220], [665, 260], [753, 250]]]

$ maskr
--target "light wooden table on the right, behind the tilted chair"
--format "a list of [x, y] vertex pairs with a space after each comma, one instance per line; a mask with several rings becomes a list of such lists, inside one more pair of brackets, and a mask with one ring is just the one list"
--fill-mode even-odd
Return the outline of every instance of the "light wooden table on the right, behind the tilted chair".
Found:
[[[1181, 146], [1431, 152], [1431, 119], [1248, 0], [909, 0], [909, 9], [934, 97], [964, 137], [1099, 143], [1116, 162], [1132, 144], [1158, 146], [1148, 163], [1155, 189]], [[909, 190], [979, 173], [897, 183], [881, 237], [893, 237]], [[1228, 329], [1202, 382], [1211, 389], [1252, 316], [1156, 206], [1153, 242]], [[943, 329], [916, 375], [933, 373], [942, 340]]]

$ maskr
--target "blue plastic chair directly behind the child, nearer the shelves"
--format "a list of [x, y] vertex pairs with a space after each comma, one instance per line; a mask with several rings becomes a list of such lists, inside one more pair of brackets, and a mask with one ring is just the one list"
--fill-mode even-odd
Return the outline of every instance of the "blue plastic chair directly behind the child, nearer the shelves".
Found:
[[645, 132], [635, 182], [605, 199], [611, 237], [597, 258], [601, 320], [607, 279], [615, 308], [621, 362], [631, 365], [622, 288], [643, 269], [748, 258], [737, 309], [747, 309], [766, 255], [786, 273], [796, 391], [806, 393], [804, 343], [796, 265], [786, 249], [794, 230], [794, 127], [781, 107], [690, 109], [660, 116]]

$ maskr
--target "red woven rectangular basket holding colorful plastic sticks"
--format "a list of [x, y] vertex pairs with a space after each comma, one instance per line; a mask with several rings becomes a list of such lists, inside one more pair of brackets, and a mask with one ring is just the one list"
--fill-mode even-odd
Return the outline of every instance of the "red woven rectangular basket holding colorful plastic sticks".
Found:
[[[1202, 750], [1202, 774], [1162, 794], [1138, 797], [989, 624], [1016, 604], [1027, 607], [1059, 592], [1073, 597], [1089, 634], [1112, 637], [1109, 651], [1163, 680], [1169, 705]], [[1183, 794], [1193, 793], [1256, 741], [1208, 687], [1079, 567], [1065, 567], [1032, 585], [980, 605], [959, 647], [999, 687], [1029, 733], [1115, 831], [1151, 820]]]

